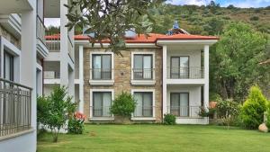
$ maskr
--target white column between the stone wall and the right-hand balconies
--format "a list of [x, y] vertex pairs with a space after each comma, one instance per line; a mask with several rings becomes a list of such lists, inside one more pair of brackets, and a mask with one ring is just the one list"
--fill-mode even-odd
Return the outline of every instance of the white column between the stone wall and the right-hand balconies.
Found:
[[162, 79], [162, 101], [163, 101], [163, 116], [167, 112], [167, 106], [166, 106], [166, 45], [163, 46], [162, 50], [162, 68], [163, 68], [163, 79]]

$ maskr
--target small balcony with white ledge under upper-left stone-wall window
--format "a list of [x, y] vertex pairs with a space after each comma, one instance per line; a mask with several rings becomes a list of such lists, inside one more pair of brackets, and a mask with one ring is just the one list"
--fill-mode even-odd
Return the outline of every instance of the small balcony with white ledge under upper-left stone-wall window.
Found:
[[113, 69], [112, 68], [91, 68], [90, 69], [90, 85], [113, 85]]

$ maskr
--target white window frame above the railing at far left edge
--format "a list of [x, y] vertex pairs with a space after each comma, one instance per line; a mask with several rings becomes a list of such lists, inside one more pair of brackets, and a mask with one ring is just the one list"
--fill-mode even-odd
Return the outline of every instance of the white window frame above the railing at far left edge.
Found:
[[1, 52], [1, 76], [4, 77], [4, 51], [14, 56], [14, 82], [20, 83], [21, 79], [21, 50], [14, 46], [13, 43], [0, 36]]

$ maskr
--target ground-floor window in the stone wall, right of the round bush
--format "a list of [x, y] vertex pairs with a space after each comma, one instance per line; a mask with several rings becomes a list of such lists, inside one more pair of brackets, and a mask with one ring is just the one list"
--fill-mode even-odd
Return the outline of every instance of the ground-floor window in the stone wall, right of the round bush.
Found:
[[137, 102], [134, 117], [153, 117], [153, 93], [134, 92]]

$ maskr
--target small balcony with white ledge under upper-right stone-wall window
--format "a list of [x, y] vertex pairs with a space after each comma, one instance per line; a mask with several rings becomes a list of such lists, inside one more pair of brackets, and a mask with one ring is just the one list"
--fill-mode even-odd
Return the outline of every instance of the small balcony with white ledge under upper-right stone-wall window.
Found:
[[155, 68], [132, 68], [131, 85], [155, 85]]

